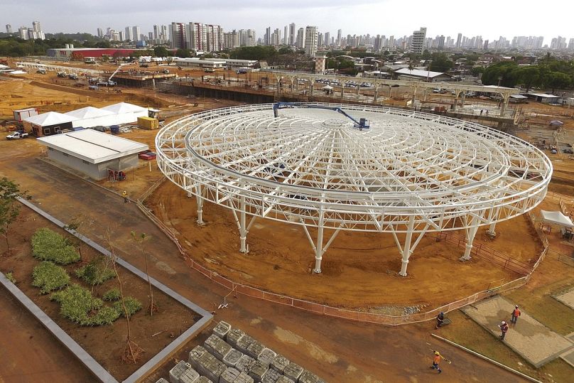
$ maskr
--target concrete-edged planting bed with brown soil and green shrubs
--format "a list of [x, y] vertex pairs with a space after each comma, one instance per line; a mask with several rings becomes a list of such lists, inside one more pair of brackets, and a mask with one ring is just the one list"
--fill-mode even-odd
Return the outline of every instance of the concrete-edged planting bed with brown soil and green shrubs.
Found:
[[[150, 315], [148, 281], [117, 265], [122, 305], [111, 260], [85, 244], [80, 259], [78, 242], [31, 210], [21, 210], [13, 227], [11, 254], [0, 256], [0, 271], [11, 273], [16, 286], [118, 380], [129, 377], [200, 318], [157, 288], [153, 303], [158, 310]], [[133, 251], [141, 254], [136, 242]], [[136, 364], [121, 358], [126, 311], [131, 340], [145, 350]]]

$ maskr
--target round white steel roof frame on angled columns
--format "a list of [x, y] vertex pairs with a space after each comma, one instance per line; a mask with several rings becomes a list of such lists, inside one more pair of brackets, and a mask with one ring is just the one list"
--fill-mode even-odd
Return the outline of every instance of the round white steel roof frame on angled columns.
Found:
[[465, 230], [470, 259], [478, 227], [494, 232], [546, 195], [551, 161], [502, 131], [386, 107], [277, 105], [193, 114], [156, 137], [161, 171], [197, 198], [197, 222], [205, 200], [232, 210], [241, 252], [256, 217], [302, 225], [317, 273], [340, 230], [387, 232], [406, 276], [426, 232]]

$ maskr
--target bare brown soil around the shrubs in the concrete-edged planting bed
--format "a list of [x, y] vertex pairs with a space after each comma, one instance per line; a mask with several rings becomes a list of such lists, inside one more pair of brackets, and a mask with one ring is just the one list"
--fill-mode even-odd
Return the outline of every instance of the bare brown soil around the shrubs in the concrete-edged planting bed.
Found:
[[[76, 325], [60, 315], [59, 304], [50, 301], [49, 294], [40, 295], [38, 288], [31, 285], [32, 269], [38, 264], [38, 260], [34, 259], [31, 254], [31, 235], [39, 227], [50, 227], [50, 229], [56, 230], [60, 234], [64, 233], [63, 230], [59, 230], [55, 225], [52, 225], [26, 207], [23, 207], [21, 215], [18, 217], [18, 222], [14, 224], [14, 227], [17, 227], [17, 229], [13, 230], [13, 235], [11, 235], [11, 254], [13, 255], [8, 256], [4, 254], [0, 258], [1, 271], [4, 273], [11, 271], [16, 278], [18, 288], [26, 293], [34, 303], [42, 308], [50, 318], [58, 323], [68, 335], [84, 347], [100, 365], [117, 379], [121, 380], [128, 377], [198, 319], [195, 313], [155, 288], [153, 298], [159, 311], [154, 313], [153, 316], [148, 315], [146, 312], [149, 293], [147, 282], [120, 268], [119, 273], [124, 285], [124, 294], [126, 296], [134, 296], [134, 298], [141, 301], [143, 306], [141, 311], [134, 314], [131, 318], [131, 339], [146, 350], [138, 364], [126, 364], [120, 358], [126, 345], [127, 327], [125, 318], [119, 318], [114, 324], [106, 326], [82, 327]], [[2, 249], [4, 250], [5, 246]], [[137, 251], [134, 250], [134, 252]], [[67, 273], [72, 276], [71, 283], [90, 288], [83, 281], [77, 279], [73, 272], [80, 266], [87, 264], [96, 254], [99, 253], [87, 247], [87, 245], [82, 245], [82, 261], [65, 266]], [[95, 286], [93, 295], [102, 298], [106, 291], [117, 286], [117, 279], [112, 279], [100, 286]], [[11, 332], [11, 329], [2, 326], [0, 333], [4, 335], [4, 333], [8, 332]], [[153, 334], [158, 332], [162, 333], [152, 337]], [[2, 337], [0, 336], [0, 338]], [[21, 356], [26, 357], [25, 355]], [[11, 358], [15, 359], [16, 357], [18, 357], [18, 354], [13, 355]], [[17, 364], [17, 360], [14, 360], [14, 363]]]

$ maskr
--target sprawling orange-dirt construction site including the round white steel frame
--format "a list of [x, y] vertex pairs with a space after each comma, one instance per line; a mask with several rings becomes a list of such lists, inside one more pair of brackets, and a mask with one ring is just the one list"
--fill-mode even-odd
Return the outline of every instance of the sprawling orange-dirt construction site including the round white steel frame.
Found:
[[[160, 130], [131, 124], [119, 132], [154, 154], [149, 161], [139, 157], [122, 180], [97, 180], [53, 161], [33, 137], [0, 142], [0, 175], [28, 190], [33, 205], [64, 223], [77, 217], [92, 222], [80, 232], [102, 245], [114, 226], [118, 254], [139, 270], [146, 266], [134, 254], [130, 232], [145, 232], [149, 274], [215, 315], [141, 381], [187, 374], [193, 382], [197, 371], [215, 382], [233, 367], [237, 374], [227, 372], [225, 382], [242, 382], [242, 372], [254, 382], [265, 381], [264, 374], [274, 382], [434, 382], [429, 347], [453, 361], [444, 367], [450, 381], [527, 379], [490, 360], [541, 382], [571, 376], [574, 236], [568, 224], [543, 215], [573, 216], [574, 109], [567, 105], [512, 104], [514, 90], [502, 87], [488, 90], [502, 101], [467, 97], [479, 91], [476, 85], [445, 85], [449, 92], [436, 94], [435, 84], [362, 79], [372, 87], [347, 87], [342, 81], [349, 77], [304, 73], [22, 66], [28, 73], [0, 75], [6, 135], [17, 129], [13, 111], [19, 109], [67, 113], [126, 102], [158, 110]], [[36, 72], [40, 67], [45, 73]], [[389, 148], [396, 156], [370, 162]], [[131, 203], [123, 202], [124, 191]], [[384, 199], [386, 193], [401, 200]], [[43, 220], [36, 215], [23, 207], [12, 255], [0, 259], [0, 271], [20, 281], [29, 279], [23, 270], [32, 267], [27, 242], [36, 220]], [[18, 262], [26, 264], [21, 271]], [[0, 315], [2, 342], [21, 347], [4, 355], [12, 362], [0, 367], [0, 378], [28, 371], [41, 376], [35, 382], [96, 379], [21, 303], [1, 295], [10, 308]], [[528, 322], [541, 334], [535, 342], [548, 338], [560, 347], [530, 355], [536, 346], [531, 333], [518, 330], [520, 320], [508, 346], [494, 339], [497, 323], [509, 318], [507, 302], [519, 305], [525, 327]], [[142, 342], [146, 358], [178, 331], [154, 336], [158, 345], [152, 345], [151, 335], [180, 313], [168, 310], [139, 335], [149, 338]], [[450, 324], [435, 330], [439, 312]], [[177, 325], [183, 333], [188, 324]], [[244, 334], [256, 340], [250, 349], [251, 342], [239, 342]], [[117, 380], [136, 370], [114, 365], [114, 355], [102, 352], [106, 342], [77, 342], [104, 369], [115, 369]], [[36, 362], [28, 362], [29, 352]], [[385, 362], [397, 353], [401, 362]], [[264, 362], [251, 372], [237, 367], [243, 356]], [[62, 360], [70, 360], [69, 367], [45, 367]], [[286, 369], [289, 361], [295, 372]]]

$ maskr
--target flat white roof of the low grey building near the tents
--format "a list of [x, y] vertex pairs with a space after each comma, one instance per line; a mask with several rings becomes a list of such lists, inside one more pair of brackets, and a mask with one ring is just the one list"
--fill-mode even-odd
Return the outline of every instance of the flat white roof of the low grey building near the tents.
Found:
[[38, 141], [90, 163], [101, 163], [149, 149], [146, 144], [93, 129], [39, 137]]

